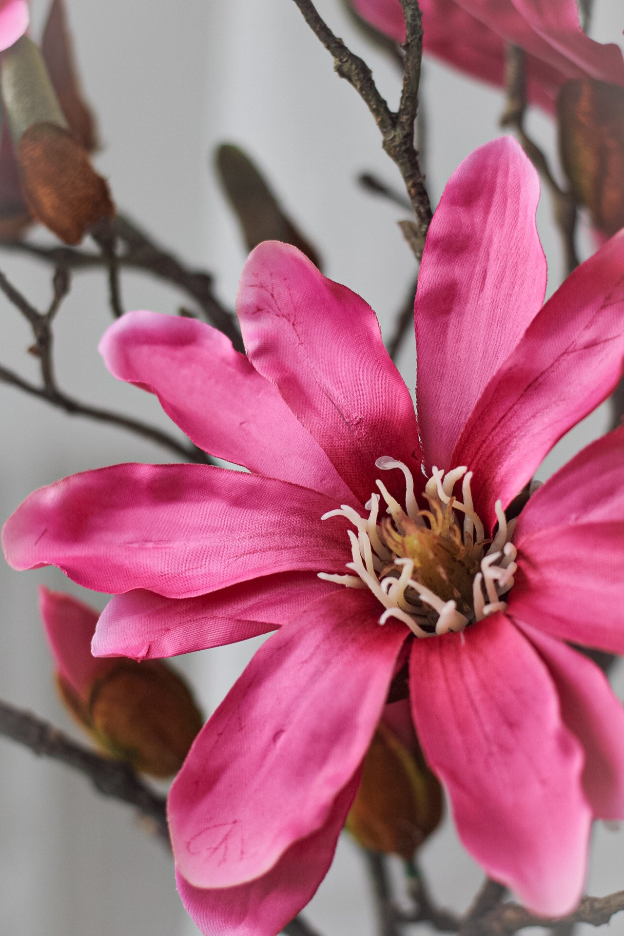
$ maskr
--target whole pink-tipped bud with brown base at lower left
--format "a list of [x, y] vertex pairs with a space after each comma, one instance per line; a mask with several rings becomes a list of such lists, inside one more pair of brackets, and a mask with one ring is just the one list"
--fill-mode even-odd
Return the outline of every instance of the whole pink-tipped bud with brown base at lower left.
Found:
[[181, 676], [160, 660], [96, 659], [97, 612], [45, 588], [39, 598], [69, 713], [109, 756], [154, 777], [176, 773], [203, 724]]

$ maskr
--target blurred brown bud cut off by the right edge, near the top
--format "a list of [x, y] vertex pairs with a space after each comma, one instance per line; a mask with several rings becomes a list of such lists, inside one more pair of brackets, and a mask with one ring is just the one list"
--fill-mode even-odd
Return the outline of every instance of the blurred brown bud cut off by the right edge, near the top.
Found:
[[573, 195], [611, 237], [624, 227], [624, 88], [566, 81], [558, 116], [561, 163]]

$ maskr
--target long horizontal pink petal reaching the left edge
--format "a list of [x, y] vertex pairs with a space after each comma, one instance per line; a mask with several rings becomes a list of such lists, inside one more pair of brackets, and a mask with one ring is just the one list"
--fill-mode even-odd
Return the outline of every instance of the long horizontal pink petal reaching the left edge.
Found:
[[171, 598], [288, 570], [344, 572], [336, 502], [285, 481], [208, 465], [113, 465], [36, 490], [7, 519], [17, 569], [57, 565], [97, 592]]

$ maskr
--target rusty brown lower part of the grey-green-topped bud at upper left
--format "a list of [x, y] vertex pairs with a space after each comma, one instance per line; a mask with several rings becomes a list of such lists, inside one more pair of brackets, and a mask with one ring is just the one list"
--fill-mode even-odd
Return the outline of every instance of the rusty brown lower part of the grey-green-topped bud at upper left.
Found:
[[78, 243], [97, 221], [115, 213], [108, 184], [63, 127], [29, 126], [17, 160], [28, 208], [65, 243]]

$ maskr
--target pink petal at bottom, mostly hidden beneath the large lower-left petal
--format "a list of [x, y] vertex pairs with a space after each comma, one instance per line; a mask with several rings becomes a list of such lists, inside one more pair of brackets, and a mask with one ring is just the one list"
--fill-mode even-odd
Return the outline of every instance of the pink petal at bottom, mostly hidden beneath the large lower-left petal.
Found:
[[206, 936], [275, 936], [312, 899], [331, 864], [359, 775], [336, 797], [327, 820], [296, 841], [262, 877], [237, 887], [190, 885], [177, 871], [182, 903]]

